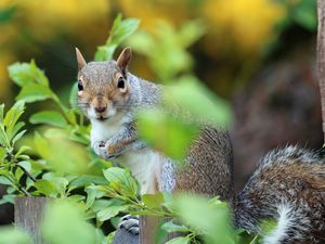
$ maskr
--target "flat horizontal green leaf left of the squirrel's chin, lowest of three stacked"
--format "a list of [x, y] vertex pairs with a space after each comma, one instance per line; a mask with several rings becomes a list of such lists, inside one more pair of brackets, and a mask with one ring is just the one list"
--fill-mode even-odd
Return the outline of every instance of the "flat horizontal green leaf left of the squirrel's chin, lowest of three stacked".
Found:
[[50, 126], [65, 127], [67, 121], [62, 114], [55, 111], [42, 111], [30, 116], [31, 124], [47, 124]]

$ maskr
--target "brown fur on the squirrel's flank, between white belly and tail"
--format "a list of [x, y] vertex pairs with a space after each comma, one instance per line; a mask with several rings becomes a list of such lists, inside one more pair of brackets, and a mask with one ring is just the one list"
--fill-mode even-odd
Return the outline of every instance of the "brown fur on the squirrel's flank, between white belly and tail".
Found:
[[188, 151], [185, 167], [177, 171], [176, 191], [218, 195], [221, 200], [232, 202], [232, 155], [227, 132], [205, 127]]

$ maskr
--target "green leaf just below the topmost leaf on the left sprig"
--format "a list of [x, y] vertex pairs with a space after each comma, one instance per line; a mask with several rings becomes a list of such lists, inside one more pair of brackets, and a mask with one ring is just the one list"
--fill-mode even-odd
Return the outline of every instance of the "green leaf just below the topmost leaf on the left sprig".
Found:
[[50, 88], [39, 84], [27, 84], [24, 86], [16, 97], [16, 100], [24, 101], [26, 103], [32, 103], [36, 101], [43, 101], [53, 97], [53, 92]]

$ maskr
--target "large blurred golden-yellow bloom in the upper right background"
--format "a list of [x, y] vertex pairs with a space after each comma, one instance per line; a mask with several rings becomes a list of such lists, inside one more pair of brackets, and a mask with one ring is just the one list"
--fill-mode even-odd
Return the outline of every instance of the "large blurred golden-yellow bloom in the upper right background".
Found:
[[209, 0], [205, 14], [222, 42], [234, 42], [244, 53], [257, 53], [273, 37], [285, 9], [272, 0]]

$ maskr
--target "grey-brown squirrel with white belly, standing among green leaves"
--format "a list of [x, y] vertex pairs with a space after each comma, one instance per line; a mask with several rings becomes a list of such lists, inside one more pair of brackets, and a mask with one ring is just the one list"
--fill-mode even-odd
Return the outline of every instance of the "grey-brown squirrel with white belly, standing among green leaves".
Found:
[[[287, 146], [266, 154], [235, 201], [233, 152], [227, 131], [202, 126], [187, 150], [185, 167], [151, 149], [136, 131], [134, 112], [161, 101], [162, 86], [128, 72], [132, 52], [122, 50], [117, 61], [87, 63], [76, 49], [78, 103], [91, 128], [94, 152], [131, 169], [141, 194], [191, 191], [219, 195], [234, 208], [237, 227], [263, 236], [263, 243], [325, 243], [325, 164], [314, 152]], [[274, 218], [277, 226], [263, 233], [261, 222]], [[136, 218], [120, 224], [134, 235], [115, 243], [138, 243]], [[133, 239], [132, 239], [133, 236]], [[128, 237], [127, 237], [128, 239]]]

